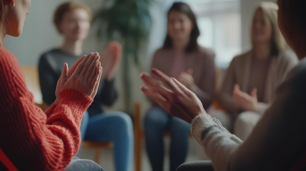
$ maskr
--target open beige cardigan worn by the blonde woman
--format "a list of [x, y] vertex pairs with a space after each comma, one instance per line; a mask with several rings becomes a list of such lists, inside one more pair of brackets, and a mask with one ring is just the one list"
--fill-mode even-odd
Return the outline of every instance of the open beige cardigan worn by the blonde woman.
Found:
[[[247, 91], [250, 68], [252, 62], [252, 51], [246, 52], [242, 55], [236, 56], [230, 63], [226, 71], [223, 85], [218, 94], [218, 102], [220, 106], [228, 113], [234, 116], [238, 114], [235, 108], [234, 100], [232, 97], [234, 85], [240, 85], [240, 90]], [[279, 84], [284, 80], [284, 77], [298, 63], [298, 58], [291, 51], [280, 53], [277, 57], [273, 56], [268, 68], [268, 73], [265, 82], [263, 102], [259, 104], [258, 113], [262, 114], [268, 103], [273, 98], [274, 91]]]

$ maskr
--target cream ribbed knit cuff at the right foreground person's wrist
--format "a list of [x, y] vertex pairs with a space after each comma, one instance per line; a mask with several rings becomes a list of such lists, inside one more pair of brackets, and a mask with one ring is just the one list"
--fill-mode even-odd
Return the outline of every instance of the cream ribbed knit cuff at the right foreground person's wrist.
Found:
[[208, 114], [199, 114], [191, 122], [191, 133], [196, 138], [197, 142], [201, 144], [201, 137], [203, 131], [207, 128], [217, 126]]

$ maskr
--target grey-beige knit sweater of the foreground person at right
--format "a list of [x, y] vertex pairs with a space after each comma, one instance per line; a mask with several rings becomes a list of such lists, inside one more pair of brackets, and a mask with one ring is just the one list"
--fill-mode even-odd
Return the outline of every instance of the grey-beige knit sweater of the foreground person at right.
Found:
[[243, 143], [209, 114], [193, 119], [191, 132], [211, 158], [215, 171], [290, 171], [299, 164], [304, 164], [300, 171], [305, 171], [305, 78], [306, 58], [287, 74]]

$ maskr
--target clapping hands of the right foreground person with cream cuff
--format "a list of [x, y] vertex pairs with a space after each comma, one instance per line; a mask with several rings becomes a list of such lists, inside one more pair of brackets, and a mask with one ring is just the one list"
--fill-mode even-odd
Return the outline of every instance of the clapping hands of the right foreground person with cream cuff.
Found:
[[157, 80], [149, 73], [142, 73], [140, 77], [146, 86], [141, 90], [169, 114], [189, 123], [198, 114], [206, 114], [197, 95], [182, 83], [157, 69], [152, 69], [151, 73]]

